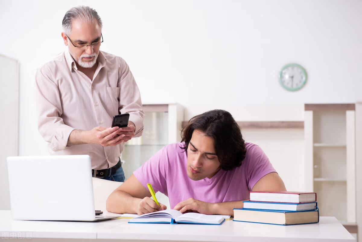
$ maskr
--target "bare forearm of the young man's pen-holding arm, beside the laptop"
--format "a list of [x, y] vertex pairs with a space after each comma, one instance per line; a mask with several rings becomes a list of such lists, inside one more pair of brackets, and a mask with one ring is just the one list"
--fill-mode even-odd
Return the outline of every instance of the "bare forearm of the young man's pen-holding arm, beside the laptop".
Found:
[[141, 200], [132, 197], [127, 192], [114, 191], [107, 199], [106, 209], [112, 213], [137, 213], [136, 208]]

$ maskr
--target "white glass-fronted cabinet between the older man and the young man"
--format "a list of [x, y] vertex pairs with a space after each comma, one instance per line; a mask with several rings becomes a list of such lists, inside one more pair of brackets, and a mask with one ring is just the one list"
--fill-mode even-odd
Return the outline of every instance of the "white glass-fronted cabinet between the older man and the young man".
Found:
[[144, 129], [132, 138], [122, 152], [126, 179], [144, 162], [169, 143], [181, 140], [184, 109], [179, 104], [144, 104]]

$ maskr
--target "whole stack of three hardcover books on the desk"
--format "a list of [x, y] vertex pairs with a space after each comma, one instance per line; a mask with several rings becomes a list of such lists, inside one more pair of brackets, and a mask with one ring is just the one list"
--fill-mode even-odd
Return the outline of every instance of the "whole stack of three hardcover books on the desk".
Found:
[[315, 192], [250, 192], [243, 208], [233, 208], [233, 221], [294, 225], [319, 222]]

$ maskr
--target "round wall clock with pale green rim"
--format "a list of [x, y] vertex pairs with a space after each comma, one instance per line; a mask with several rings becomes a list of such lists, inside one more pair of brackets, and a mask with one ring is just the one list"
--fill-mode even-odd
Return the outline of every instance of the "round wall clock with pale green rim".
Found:
[[307, 72], [298, 64], [287, 64], [279, 73], [279, 82], [288, 91], [297, 91], [307, 82]]

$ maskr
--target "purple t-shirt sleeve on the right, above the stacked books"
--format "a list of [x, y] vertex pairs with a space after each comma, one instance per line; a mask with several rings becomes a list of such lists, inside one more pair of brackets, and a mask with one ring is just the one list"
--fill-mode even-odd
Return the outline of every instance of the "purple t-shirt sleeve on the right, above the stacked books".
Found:
[[254, 185], [266, 174], [276, 172], [271, 165], [269, 158], [264, 151], [257, 145], [253, 145], [247, 151], [245, 157], [245, 174], [248, 182], [249, 191], [252, 191]]

